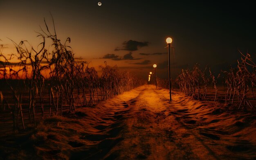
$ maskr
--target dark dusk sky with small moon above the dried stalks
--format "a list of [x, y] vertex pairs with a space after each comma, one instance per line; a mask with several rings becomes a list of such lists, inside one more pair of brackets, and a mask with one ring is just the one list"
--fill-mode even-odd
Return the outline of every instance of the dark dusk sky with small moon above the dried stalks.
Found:
[[[168, 55], [165, 39], [171, 37], [171, 71], [199, 63], [215, 72], [235, 64], [240, 54], [256, 57], [255, 5], [252, 2], [163, 0], [0, 0], [0, 44], [4, 53], [15, 53], [8, 38], [28, 40], [37, 46], [44, 18], [58, 37], [71, 38], [76, 57], [99, 70], [107, 61], [120, 69], [146, 77], [157, 64], [166, 78]], [[53, 31], [53, 30], [52, 30]], [[174, 65], [175, 64], [175, 65]]]

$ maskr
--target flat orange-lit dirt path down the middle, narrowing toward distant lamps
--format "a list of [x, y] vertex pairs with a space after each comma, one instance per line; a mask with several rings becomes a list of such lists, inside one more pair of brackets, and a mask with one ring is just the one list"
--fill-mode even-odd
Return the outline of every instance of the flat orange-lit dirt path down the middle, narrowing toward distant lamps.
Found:
[[[169, 102], [168, 96], [154, 86], [139, 91], [126, 102], [134, 114], [126, 120], [120, 159], [219, 159], [196, 131], [177, 120], [177, 113], [187, 113], [180, 110], [184, 106], [177, 102], [178, 96]], [[191, 118], [187, 121], [193, 124]]]

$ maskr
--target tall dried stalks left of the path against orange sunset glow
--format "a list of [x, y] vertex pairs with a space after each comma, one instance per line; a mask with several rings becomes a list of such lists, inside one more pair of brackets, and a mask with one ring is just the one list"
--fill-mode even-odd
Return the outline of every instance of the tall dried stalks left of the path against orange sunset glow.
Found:
[[[130, 72], [106, 63], [100, 66], [103, 73], [99, 77], [86, 61], [76, 61], [67, 45], [70, 37], [62, 43], [55, 26], [53, 33], [46, 22], [45, 27], [38, 33], [42, 42], [37, 49], [27, 41], [19, 44], [12, 41], [16, 53], [7, 55], [3, 53], [3, 45], [0, 46], [1, 112], [11, 112], [13, 130], [19, 129], [19, 119], [25, 129], [24, 112], [29, 122], [35, 124], [39, 116], [35, 109], [40, 108], [41, 117], [63, 115], [64, 107], [72, 112], [76, 106], [94, 105], [143, 84]], [[51, 43], [49, 47], [47, 40]]]

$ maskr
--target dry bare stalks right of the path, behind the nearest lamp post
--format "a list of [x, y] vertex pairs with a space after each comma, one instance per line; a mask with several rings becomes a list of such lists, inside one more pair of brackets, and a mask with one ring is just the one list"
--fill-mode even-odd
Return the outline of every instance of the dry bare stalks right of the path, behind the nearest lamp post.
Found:
[[[238, 109], [249, 107], [255, 109], [254, 88], [256, 85], [256, 65], [251, 56], [247, 53], [241, 53], [241, 60], [237, 61], [236, 68], [230, 66], [229, 71], [221, 70], [217, 75], [213, 74], [208, 66], [204, 70], [199, 64], [195, 64], [193, 69], [182, 69], [177, 75], [175, 81], [172, 81], [172, 88], [179, 88], [180, 92], [191, 96], [193, 99], [207, 100], [209, 96], [209, 86], [212, 84], [214, 92], [214, 101], [218, 97], [218, 88], [220, 82], [224, 85], [225, 103], [237, 104]], [[208, 72], [209, 71], [209, 72]], [[162, 88], [169, 88], [168, 79], [157, 79], [157, 84]], [[237, 101], [234, 101], [237, 99]]]

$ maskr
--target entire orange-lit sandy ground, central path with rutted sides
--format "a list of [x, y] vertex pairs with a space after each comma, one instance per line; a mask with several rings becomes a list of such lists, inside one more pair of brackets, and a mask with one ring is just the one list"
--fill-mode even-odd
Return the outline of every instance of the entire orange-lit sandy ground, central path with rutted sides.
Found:
[[144, 85], [0, 139], [3, 159], [256, 159], [256, 116]]

